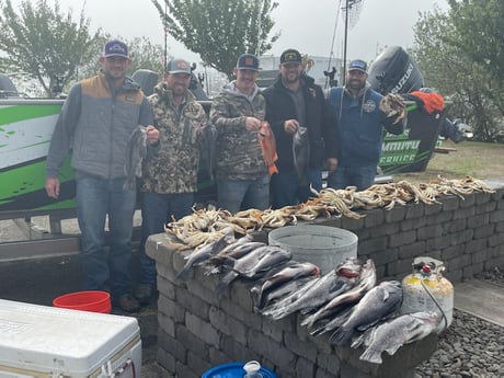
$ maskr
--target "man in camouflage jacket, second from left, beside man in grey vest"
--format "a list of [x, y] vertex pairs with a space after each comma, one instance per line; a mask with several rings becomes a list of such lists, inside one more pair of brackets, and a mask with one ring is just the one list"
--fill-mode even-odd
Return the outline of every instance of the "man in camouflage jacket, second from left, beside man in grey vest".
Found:
[[[165, 67], [164, 80], [149, 96], [159, 145], [142, 167], [142, 236], [163, 232], [172, 217], [180, 219], [192, 211], [197, 191], [197, 172], [203, 128], [207, 116], [188, 91], [191, 66], [173, 59]], [[144, 247], [145, 243], [142, 243]], [[140, 302], [152, 299], [156, 287], [156, 262], [140, 248], [140, 280], [135, 296]]]

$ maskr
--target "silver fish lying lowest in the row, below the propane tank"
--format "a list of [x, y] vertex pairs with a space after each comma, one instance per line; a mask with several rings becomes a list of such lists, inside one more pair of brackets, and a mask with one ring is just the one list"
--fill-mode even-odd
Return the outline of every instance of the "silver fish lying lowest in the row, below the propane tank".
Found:
[[381, 364], [381, 353], [393, 355], [402, 345], [422, 340], [434, 333], [442, 321], [437, 312], [413, 312], [400, 316], [368, 329], [352, 343], [352, 347], [364, 345], [359, 359]]

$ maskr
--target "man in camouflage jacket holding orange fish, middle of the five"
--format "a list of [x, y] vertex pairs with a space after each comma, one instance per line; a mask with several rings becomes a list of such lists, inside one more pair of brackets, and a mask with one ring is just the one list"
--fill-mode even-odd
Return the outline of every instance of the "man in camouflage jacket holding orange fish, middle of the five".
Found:
[[270, 176], [264, 162], [259, 130], [266, 103], [255, 84], [259, 60], [239, 57], [237, 80], [214, 99], [210, 122], [217, 129], [217, 202], [221, 209], [265, 209], [270, 205]]

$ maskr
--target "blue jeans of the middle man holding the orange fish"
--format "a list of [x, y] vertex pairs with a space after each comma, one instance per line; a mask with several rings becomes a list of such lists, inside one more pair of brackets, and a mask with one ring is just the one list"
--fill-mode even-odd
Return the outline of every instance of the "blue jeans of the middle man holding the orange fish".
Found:
[[255, 180], [218, 180], [217, 206], [238, 213], [242, 209], [264, 210], [270, 206], [270, 176]]

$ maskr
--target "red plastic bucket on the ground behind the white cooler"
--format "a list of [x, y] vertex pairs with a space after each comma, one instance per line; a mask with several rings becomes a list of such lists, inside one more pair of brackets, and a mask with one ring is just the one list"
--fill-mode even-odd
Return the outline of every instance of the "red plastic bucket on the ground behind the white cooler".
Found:
[[102, 313], [111, 313], [112, 310], [111, 295], [100, 290], [66, 294], [53, 300], [53, 306]]

